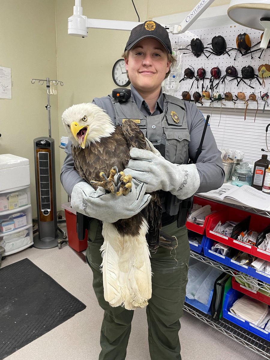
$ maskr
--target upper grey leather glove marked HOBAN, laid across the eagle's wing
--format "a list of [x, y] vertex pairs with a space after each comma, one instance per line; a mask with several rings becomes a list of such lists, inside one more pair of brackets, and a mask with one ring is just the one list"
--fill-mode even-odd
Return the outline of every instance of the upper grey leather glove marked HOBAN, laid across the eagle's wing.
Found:
[[200, 185], [200, 177], [195, 164], [172, 164], [162, 156], [148, 150], [133, 148], [126, 175], [146, 185], [146, 192], [169, 191], [179, 199], [194, 195]]

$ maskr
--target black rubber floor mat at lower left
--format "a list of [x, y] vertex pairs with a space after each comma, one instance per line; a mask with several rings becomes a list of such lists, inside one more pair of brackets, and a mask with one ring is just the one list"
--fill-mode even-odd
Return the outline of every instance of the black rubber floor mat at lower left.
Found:
[[3, 267], [0, 269], [0, 360], [85, 307], [29, 259]]

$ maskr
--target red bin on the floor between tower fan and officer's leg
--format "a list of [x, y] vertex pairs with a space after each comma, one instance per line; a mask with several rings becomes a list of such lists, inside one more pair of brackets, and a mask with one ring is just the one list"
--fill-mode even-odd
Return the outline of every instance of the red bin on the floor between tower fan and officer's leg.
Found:
[[68, 245], [78, 252], [84, 251], [87, 249], [88, 231], [85, 231], [84, 240], [80, 241], [77, 236], [76, 211], [72, 209], [70, 202], [62, 204], [62, 208], [66, 216]]

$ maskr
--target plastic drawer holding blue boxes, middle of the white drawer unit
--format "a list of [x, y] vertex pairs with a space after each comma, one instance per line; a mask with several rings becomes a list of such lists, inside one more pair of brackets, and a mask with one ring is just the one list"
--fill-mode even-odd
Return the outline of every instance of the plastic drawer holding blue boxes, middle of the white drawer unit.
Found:
[[0, 213], [0, 237], [1, 235], [19, 232], [30, 225], [32, 226], [32, 208], [30, 204], [23, 206], [23, 208]]

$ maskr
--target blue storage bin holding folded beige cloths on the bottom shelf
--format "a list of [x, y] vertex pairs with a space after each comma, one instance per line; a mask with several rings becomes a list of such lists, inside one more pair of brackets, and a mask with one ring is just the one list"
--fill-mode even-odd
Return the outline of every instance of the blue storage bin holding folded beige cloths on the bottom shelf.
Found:
[[265, 340], [270, 341], [270, 333], [268, 333], [264, 329], [258, 328], [256, 325], [253, 325], [253, 324], [249, 323], [249, 321], [244, 320], [244, 319], [240, 318], [239, 316], [234, 315], [230, 312], [230, 308], [233, 306], [235, 301], [242, 296], [243, 296], [243, 294], [237, 290], [230, 289], [228, 291], [228, 293], [225, 297], [225, 302], [224, 302], [224, 306], [223, 306], [224, 319], [227, 319], [227, 320], [231, 321], [232, 323], [240, 326], [241, 328], [248, 330], [252, 334], [255, 334]]

